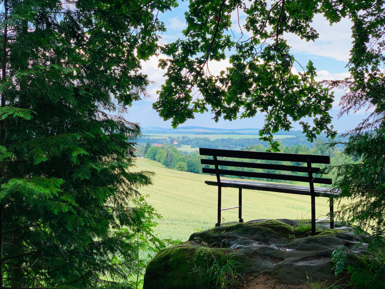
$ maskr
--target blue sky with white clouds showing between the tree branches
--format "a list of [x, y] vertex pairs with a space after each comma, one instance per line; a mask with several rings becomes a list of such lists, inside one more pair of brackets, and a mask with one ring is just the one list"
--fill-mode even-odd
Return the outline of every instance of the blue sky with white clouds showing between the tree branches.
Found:
[[[183, 38], [182, 30], [186, 26], [184, 20], [184, 12], [187, 10], [188, 1], [181, 2], [179, 7], [174, 8], [171, 12], [159, 15], [159, 18], [166, 24], [167, 32], [162, 35], [164, 43], [172, 42], [176, 39]], [[243, 16], [240, 15], [241, 22]], [[234, 27], [238, 27], [238, 23]], [[341, 22], [333, 26], [320, 15], [316, 15], [312, 26], [318, 31], [320, 37], [315, 42], [306, 42], [293, 34], [286, 34], [285, 38], [288, 44], [292, 47], [292, 53], [295, 55], [298, 62], [305, 66], [308, 60], [311, 60], [317, 68], [318, 80], [323, 79], [343, 79], [347, 77], [348, 69], [346, 63], [349, 58], [349, 50], [352, 47], [351, 38], [351, 22], [349, 19], [342, 19]], [[235, 29], [234, 29], [235, 30]], [[234, 31], [237, 33], [236, 31]], [[239, 28], [238, 28], [239, 33]], [[221, 71], [226, 68], [226, 60], [220, 63], [210, 62], [211, 71]], [[297, 70], [300, 67], [295, 67]], [[129, 113], [126, 115], [127, 120], [140, 123], [141, 126], [161, 126], [171, 128], [171, 121], [163, 121], [159, 115], [152, 109], [152, 102], [157, 99], [156, 91], [164, 83], [164, 71], [157, 67], [157, 58], [151, 57], [146, 62], [142, 62], [143, 73], [149, 76], [149, 79], [155, 81], [154, 86], [149, 86], [147, 89], [150, 92], [152, 99], [143, 99], [135, 102]], [[354, 128], [357, 123], [365, 117], [365, 112], [350, 114], [343, 116], [340, 119], [336, 118], [339, 111], [338, 99], [343, 94], [343, 91], [335, 91], [335, 104], [331, 111], [333, 116], [332, 124], [338, 132], [343, 132], [347, 129]], [[263, 126], [264, 116], [259, 113], [254, 118], [237, 119], [235, 121], [219, 120], [218, 123], [213, 121], [211, 114], [196, 114], [195, 119], [186, 121], [181, 126], [205, 126], [214, 128], [261, 128]], [[298, 124], [293, 123], [294, 129], [300, 129]]]

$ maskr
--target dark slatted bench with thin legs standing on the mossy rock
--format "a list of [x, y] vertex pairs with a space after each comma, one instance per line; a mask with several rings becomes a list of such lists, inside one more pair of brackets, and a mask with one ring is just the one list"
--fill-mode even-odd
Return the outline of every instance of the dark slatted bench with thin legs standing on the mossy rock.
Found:
[[[334, 228], [333, 222], [333, 195], [335, 193], [328, 192], [328, 188], [314, 187], [314, 183], [331, 185], [330, 178], [313, 177], [313, 174], [318, 173], [320, 168], [312, 167], [311, 163], [330, 163], [329, 156], [318, 155], [302, 155], [292, 153], [268, 153], [259, 151], [233, 151], [233, 150], [216, 150], [211, 148], [199, 148], [199, 153], [202, 156], [213, 156], [213, 160], [201, 159], [203, 165], [213, 165], [214, 168], [203, 168], [203, 173], [215, 174], [217, 181], [205, 181], [210, 186], [218, 186], [218, 222], [215, 224], [218, 227], [221, 224], [221, 211], [238, 208], [239, 222], [243, 222], [242, 218], [242, 189], [249, 190], [261, 190], [268, 192], [281, 192], [292, 193], [298, 195], [310, 196], [311, 202], [311, 234], [315, 234], [315, 197], [328, 197], [330, 205], [330, 228]], [[228, 158], [246, 158], [251, 160], [268, 160], [268, 161], [290, 161], [296, 163], [306, 163], [307, 166], [297, 165], [278, 165], [268, 163], [253, 163], [247, 161], [228, 161], [218, 160], [218, 157]], [[256, 168], [263, 170], [281, 170], [291, 172], [303, 172], [307, 173], [307, 176], [300, 175], [284, 175], [279, 173], [264, 173], [245, 170], [224, 170], [219, 166], [230, 166], [237, 168]], [[286, 180], [286, 181], [302, 181], [309, 183], [307, 186], [289, 185], [283, 183], [262, 183], [256, 181], [239, 181], [239, 180], [221, 180], [221, 175], [240, 176], [240, 177], [253, 177], [253, 178], [265, 178], [273, 180]], [[239, 189], [239, 204], [237, 207], [221, 208], [221, 188], [238, 188]], [[327, 220], [328, 218], [322, 219]], [[321, 220], [318, 220], [318, 222]]]

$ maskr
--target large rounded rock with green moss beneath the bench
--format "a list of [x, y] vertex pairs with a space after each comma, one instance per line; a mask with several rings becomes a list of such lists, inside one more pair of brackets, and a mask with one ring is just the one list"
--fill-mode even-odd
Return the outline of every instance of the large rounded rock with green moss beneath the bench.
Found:
[[350, 250], [347, 265], [357, 264], [365, 254], [365, 246], [355, 248], [360, 238], [349, 228], [326, 229], [327, 222], [321, 222], [317, 235], [309, 236], [308, 232], [298, 235], [296, 225], [298, 221], [287, 219], [254, 220], [194, 233], [187, 242], [155, 255], [146, 269], [143, 289], [204, 287], [198, 284], [204, 277], [201, 273], [214, 259], [224, 264], [229, 254], [247, 274], [267, 274], [287, 284], [301, 284], [308, 276], [313, 281], [335, 279], [331, 254], [340, 246]]

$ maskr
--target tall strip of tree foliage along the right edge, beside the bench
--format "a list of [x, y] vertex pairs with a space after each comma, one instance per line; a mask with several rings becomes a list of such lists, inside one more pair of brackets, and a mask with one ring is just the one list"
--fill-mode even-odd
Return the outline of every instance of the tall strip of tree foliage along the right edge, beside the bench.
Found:
[[[369, 254], [360, 267], [350, 266], [348, 272], [355, 288], [374, 289], [383, 288], [385, 280], [385, 9], [384, 1], [352, 3], [345, 8], [353, 22], [350, 77], [327, 83], [345, 90], [339, 116], [365, 108], [370, 113], [343, 134], [347, 142], [340, 141], [345, 144], [343, 153], [355, 162], [337, 163], [334, 189], [341, 193], [335, 197], [341, 206], [336, 217], [354, 225], [356, 234], [372, 233], [365, 239]], [[343, 250], [335, 252], [336, 262], [341, 262]]]

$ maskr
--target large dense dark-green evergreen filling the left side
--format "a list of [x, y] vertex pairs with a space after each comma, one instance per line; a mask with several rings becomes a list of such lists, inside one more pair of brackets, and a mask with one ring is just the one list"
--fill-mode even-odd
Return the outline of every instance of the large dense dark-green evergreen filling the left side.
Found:
[[176, 2], [1, 3], [0, 287], [116, 284], [152, 234], [130, 202], [152, 173], [131, 170], [140, 129], [122, 114]]

